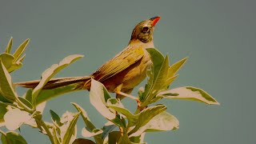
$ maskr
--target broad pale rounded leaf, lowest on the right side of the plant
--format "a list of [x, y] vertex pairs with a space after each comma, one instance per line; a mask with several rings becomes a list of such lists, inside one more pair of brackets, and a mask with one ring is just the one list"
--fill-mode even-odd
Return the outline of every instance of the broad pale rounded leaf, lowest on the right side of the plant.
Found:
[[176, 130], [178, 126], [178, 119], [172, 114], [163, 111], [152, 118], [145, 126], [140, 127], [134, 134], [131, 134], [130, 137], [140, 136], [144, 132]]

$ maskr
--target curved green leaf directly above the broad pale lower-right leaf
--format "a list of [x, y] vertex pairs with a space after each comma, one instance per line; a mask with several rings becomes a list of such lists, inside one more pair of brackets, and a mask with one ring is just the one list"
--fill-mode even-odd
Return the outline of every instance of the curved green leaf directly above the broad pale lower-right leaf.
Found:
[[133, 130], [130, 130], [130, 132], [128, 133], [128, 135], [133, 134], [134, 132], [136, 132], [140, 127], [145, 126], [147, 122], [150, 122], [150, 120], [152, 118], [154, 118], [154, 116], [156, 116], [157, 114], [162, 113], [164, 110], [166, 110], [166, 106], [164, 105], [158, 105], [158, 106], [151, 106], [148, 107], [144, 110], [142, 110], [139, 114], [138, 114], [138, 121], [137, 124], [135, 125]]

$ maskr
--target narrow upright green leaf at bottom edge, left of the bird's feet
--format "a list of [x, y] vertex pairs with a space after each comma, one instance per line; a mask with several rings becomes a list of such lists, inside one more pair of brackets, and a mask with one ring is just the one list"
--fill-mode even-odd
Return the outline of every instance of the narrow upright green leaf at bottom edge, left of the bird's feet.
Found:
[[80, 114], [80, 112], [78, 114], [75, 114], [73, 120], [70, 121], [70, 125], [68, 126], [66, 133], [64, 135], [63, 141], [62, 141], [63, 144], [70, 143], [70, 138], [74, 134], [74, 130], [75, 130], [76, 123], [78, 122], [79, 114]]

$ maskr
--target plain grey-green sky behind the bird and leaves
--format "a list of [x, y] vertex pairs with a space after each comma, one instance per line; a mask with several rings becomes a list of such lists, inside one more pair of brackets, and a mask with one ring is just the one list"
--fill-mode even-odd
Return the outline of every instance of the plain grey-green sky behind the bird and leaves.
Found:
[[[177, 1], [0, 1], [0, 50], [10, 37], [16, 48], [26, 38], [24, 66], [12, 73], [14, 82], [40, 78], [43, 70], [70, 54], [85, 57], [62, 70], [58, 77], [92, 73], [121, 51], [134, 26], [160, 15], [154, 44], [170, 62], [189, 57], [172, 87], [196, 86], [221, 103], [207, 106], [184, 100], [162, 101], [180, 122], [175, 131], [146, 134], [146, 142], [176, 144], [256, 143], [256, 2], [253, 0]], [[142, 83], [141, 86], [143, 86]], [[133, 94], [137, 94], [136, 88]], [[19, 89], [22, 95], [24, 90]], [[75, 112], [77, 102], [100, 128], [106, 120], [79, 91], [53, 98], [49, 110]], [[125, 99], [127, 107], [134, 102]], [[134, 108], [131, 108], [134, 110]], [[78, 121], [81, 136], [82, 119]], [[22, 126], [29, 143], [50, 143], [37, 129]]]

